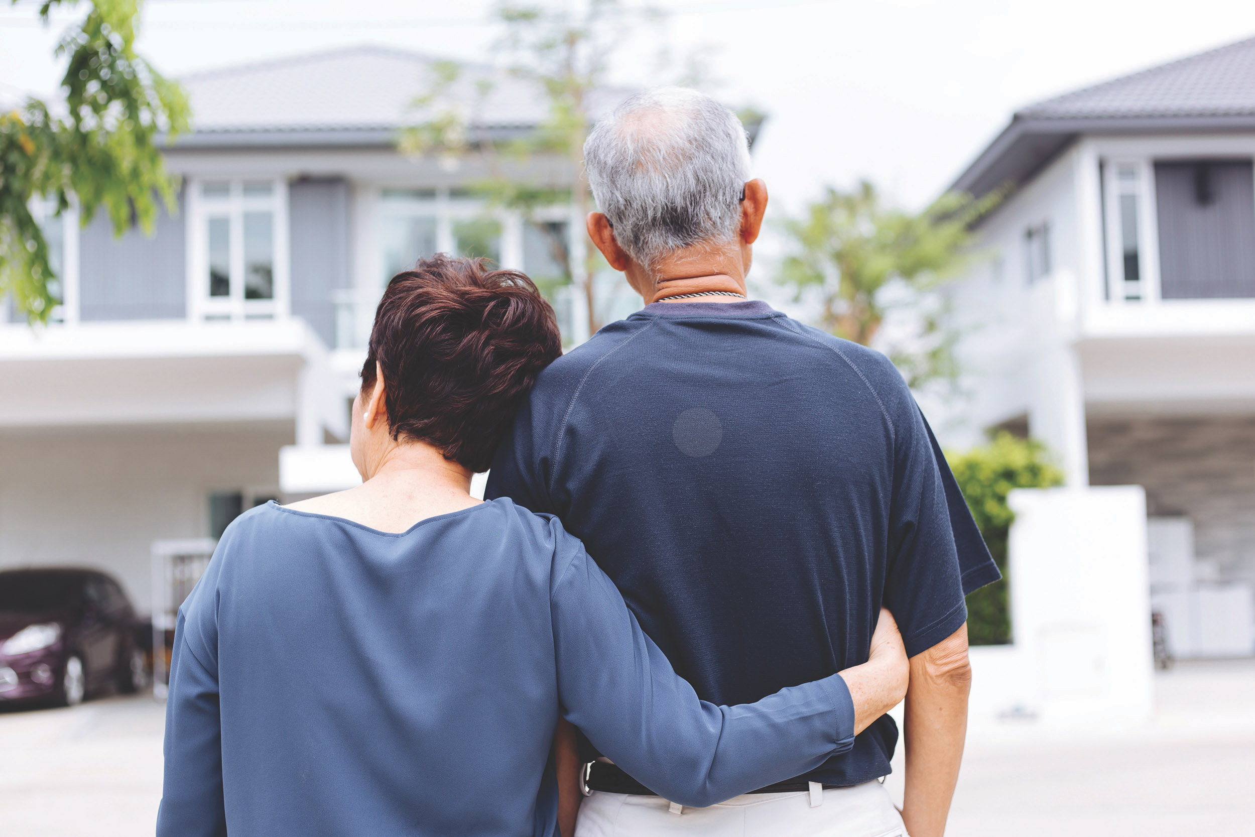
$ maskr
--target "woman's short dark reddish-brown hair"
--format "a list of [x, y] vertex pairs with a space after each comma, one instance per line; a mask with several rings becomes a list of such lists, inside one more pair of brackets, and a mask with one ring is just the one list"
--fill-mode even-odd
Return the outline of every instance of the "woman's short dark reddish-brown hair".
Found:
[[378, 361], [393, 438], [482, 472], [536, 375], [561, 354], [553, 309], [525, 274], [438, 253], [388, 282], [361, 387], [374, 387]]

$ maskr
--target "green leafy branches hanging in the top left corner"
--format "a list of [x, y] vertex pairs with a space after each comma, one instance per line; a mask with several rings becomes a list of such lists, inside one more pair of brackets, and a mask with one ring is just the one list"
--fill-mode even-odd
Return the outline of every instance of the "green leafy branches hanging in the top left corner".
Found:
[[[46, 25], [55, 6], [74, 5], [44, 0], [39, 15]], [[176, 206], [158, 142], [186, 129], [187, 98], [136, 54], [138, 0], [87, 5], [56, 48], [64, 100], [29, 97], [0, 114], [0, 296], [31, 323], [60, 301], [33, 200], [54, 201], [60, 215], [74, 196], [84, 225], [104, 207], [117, 235], [134, 223], [151, 233], [159, 202]]]

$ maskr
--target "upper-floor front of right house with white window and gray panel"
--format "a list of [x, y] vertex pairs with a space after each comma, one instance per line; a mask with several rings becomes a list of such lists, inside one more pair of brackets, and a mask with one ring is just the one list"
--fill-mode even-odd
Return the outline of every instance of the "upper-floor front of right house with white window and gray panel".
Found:
[[1083, 272], [1102, 304], [1086, 331], [1255, 331], [1255, 137], [1099, 139], [1089, 151], [1096, 161], [1079, 159], [1097, 166], [1101, 257]]

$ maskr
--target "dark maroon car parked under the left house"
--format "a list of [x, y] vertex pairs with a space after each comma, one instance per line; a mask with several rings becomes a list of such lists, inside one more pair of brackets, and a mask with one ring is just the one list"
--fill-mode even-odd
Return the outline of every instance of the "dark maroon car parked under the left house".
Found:
[[0, 703], [80, 703], [137, 691], [147, 671], [138, 620], [117, 581], [95, 570], [0, 572]]

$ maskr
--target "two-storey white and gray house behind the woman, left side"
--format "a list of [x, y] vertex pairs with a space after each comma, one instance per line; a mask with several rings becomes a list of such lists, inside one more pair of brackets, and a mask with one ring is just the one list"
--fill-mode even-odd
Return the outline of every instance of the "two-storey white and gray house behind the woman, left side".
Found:
[[[103, 212], [84, 228], [45, 212], [63, 305], [34, 329], [0, 307], [0, 566], [104, 568], [147, 611], [153, 541], [217, 537], [256, 503], [355, 479], [341, 443], [390, 276], [444, 251], [553, 277], [555, 237], [579, 257], [570, 205], [493, 210], [473, 189], [482, 159], [398, 153], [433, 65], [355, 48], [187, 77], [193, 131], [166, 151], [177, 213], [114, 238]], [[472, 131], [518, 137], [547, 115], [537, 87], [463, 69], [446, 98]], [[575, 176], [547, 157], [515, 173]], [[611, 286], [605, 319], [639, 307]], [[569, 291], [555, 301], [579, 341]]]

